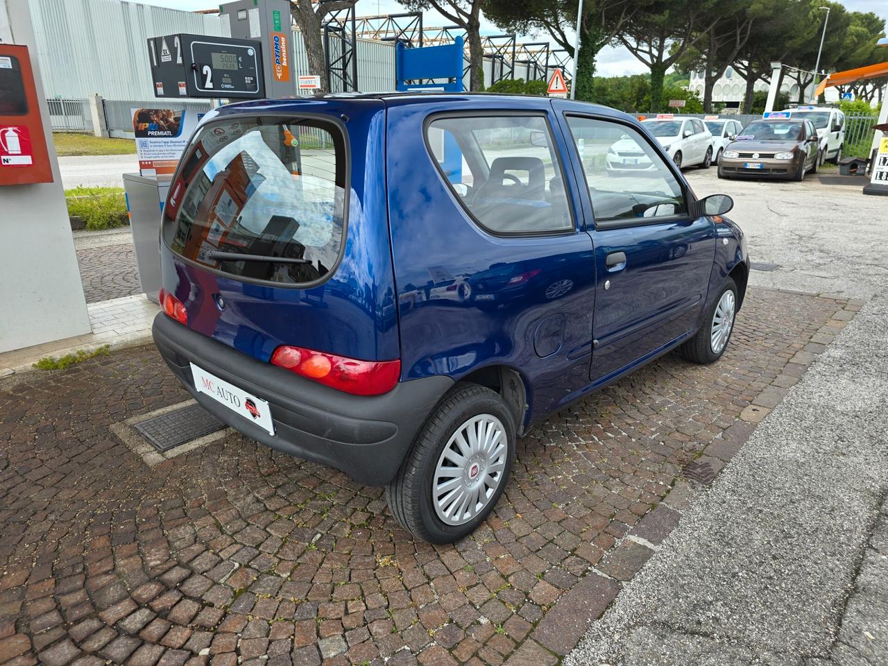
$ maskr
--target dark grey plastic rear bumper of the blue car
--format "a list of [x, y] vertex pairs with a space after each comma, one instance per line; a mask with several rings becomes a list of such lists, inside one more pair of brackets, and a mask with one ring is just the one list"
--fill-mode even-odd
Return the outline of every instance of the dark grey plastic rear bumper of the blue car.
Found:
[[[372, 486], [392, 480], [416, 432], [454, 384], [449, 377], [424, 377], [401, 382], [384, 395], [355, 396], [257, 361], [163, 313], [155, 317], [152, 334], [163, 361], [220, 421], [266, 446], [328, 464]], [[274, 435], [198, 392], [190, 363], [267, 400]]]

